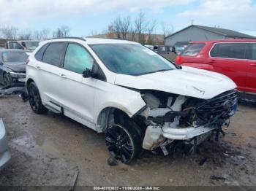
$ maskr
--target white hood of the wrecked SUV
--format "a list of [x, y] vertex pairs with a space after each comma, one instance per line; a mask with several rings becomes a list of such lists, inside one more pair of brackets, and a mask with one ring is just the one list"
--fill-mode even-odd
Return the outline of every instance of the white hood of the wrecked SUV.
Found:
[[203, 99], [210, 99], [236, 88], [236, 84], [222, 74], [186, 66], [182, 68], [142, 76], [116, 74], [115, 84], [138, 90], [160, 90]]

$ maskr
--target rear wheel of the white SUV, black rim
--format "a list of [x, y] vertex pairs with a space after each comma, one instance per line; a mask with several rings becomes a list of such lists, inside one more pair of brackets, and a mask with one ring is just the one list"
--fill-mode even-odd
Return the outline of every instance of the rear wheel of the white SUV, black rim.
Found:
[[29, 84], [28, 93], [29, 93], [29, 104], [31, 106], [31, 109], [35, 113], [45, 114], [46, 112], [48, 112], [48, 109], [46, 109], [45, 106], [42, 105], [42, 100], [39, 94], [39, 90], [37, 88], [37, 85], [34, 82], [31, 82]]

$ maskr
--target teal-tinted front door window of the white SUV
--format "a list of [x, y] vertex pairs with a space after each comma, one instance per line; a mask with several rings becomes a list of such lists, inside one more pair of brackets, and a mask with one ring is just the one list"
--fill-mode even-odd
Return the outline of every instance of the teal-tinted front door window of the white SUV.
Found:
[[86, 69], [92, 69], [94, 59], [86, 49], [78, 44], [69, 44], [64, 59], [64, 69], [82, 74]]

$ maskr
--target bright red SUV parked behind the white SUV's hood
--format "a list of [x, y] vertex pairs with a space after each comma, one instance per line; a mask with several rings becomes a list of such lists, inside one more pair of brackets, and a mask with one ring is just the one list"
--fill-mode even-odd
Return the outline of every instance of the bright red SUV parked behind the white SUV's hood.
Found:
[[256, 39], [191, 42], [176, 63], [225, 74], [238, 90], [256, 93]]

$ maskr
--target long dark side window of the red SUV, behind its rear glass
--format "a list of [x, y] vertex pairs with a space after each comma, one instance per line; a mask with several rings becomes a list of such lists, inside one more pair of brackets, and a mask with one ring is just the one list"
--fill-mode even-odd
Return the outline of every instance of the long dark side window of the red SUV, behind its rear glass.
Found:
[[217, 58], [245, 58], [246, 43], [219, 43], [211, 50], [211, 57]]

